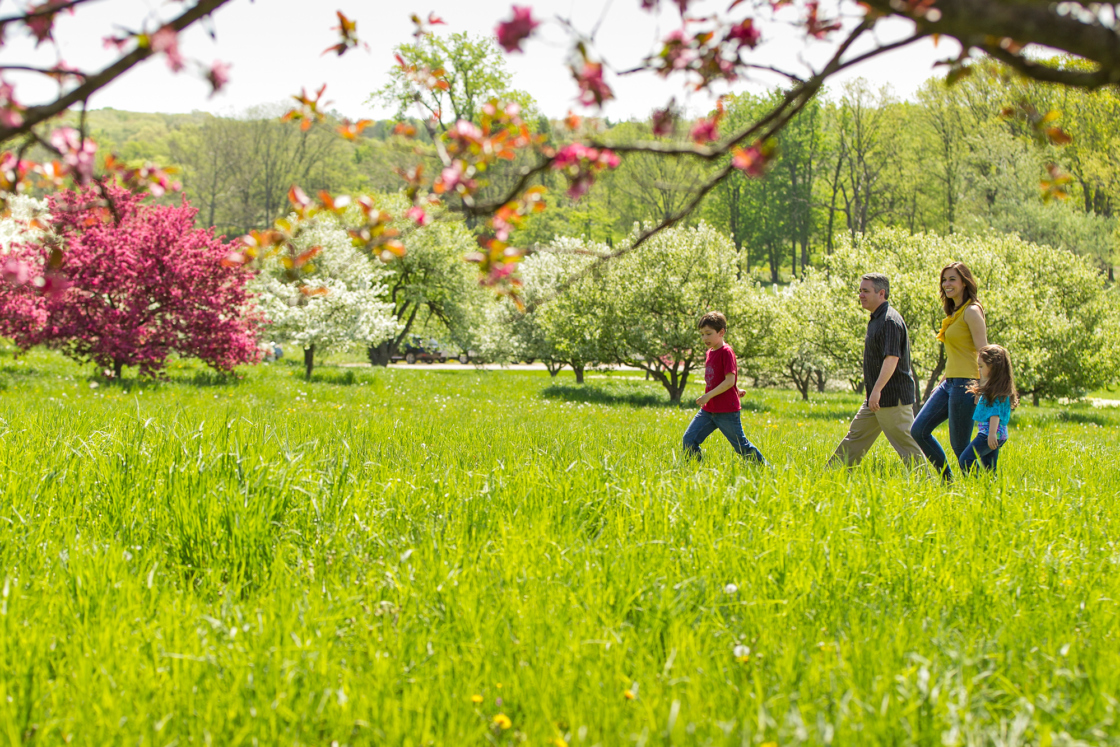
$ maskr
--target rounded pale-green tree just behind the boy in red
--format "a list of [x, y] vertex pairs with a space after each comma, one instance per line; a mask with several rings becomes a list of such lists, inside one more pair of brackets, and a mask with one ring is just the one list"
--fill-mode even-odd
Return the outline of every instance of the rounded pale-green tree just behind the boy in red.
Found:
[[730, 240], [701, 223], [664, 231], [614, 260], [604, 300], [605, 357], [650, 372], [680, 402], [692, 372], [703, 370], [697, 321], [735, 305], [735, 259]]

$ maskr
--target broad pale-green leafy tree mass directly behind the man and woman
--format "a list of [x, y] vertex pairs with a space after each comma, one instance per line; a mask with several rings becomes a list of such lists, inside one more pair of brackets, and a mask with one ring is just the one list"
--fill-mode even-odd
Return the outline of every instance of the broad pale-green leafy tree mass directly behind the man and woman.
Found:
[[[944, 317], [937, 277], [949, 261], [964, 262], [976, 276], [988, 339], [1010, 351], [1021, 392], [1079, 396], [1116, 379], [1120, 348], [1113, 343], [1114, 291], [1105, 291], [1103, 278], [1088, 260], [1014, 235], [886, 230], [856, 242], [844, 237], [825, 261], [827, 276], [813, 273], [785, 295], [791, 314], [801, 319], [792, 334], [796, 337], [804, 326], [803, 338], [816, 360], [827, 362], [822, 365], [836, 375], [857, 375], [855, 344], [864, 338], [866, 314], [853, 312], [855, 290], [864, 273], [884, 272], [890, 278], [890, 304], [909, 328], [922, 399], [944, 371], [944, 351], [935, 339]], [[834, 340], [832, 347], [829, 340]]]

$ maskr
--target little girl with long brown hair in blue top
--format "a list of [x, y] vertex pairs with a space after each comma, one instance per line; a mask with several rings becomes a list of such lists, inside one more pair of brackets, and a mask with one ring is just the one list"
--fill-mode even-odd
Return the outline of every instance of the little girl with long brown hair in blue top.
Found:
[[980, 364], [980, 380], [969, 384], [968, 391], [977, 403], [972, 420], [979, 432], [958, 460], [964, 473], [977, 459], [986, 469], [996, 471], [999, 449], [1007, 442], [1011, 410], [1019, 407], [1011, 356], [1007, 351], [999, 345], [986, 345], [977, 353], [977, 363]]

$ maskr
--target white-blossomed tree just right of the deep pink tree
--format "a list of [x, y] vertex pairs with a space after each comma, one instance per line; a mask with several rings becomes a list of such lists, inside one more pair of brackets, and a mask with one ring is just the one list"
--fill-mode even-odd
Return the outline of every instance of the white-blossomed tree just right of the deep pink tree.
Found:
[[295, 256], [264, 260], [252, 288], [269, 334], [304, 348], [310, 379], [316, 354], [376, 345], [396, 333], [384, 300], [388, 274], [334, 218], [320, 216], [300, 233]]

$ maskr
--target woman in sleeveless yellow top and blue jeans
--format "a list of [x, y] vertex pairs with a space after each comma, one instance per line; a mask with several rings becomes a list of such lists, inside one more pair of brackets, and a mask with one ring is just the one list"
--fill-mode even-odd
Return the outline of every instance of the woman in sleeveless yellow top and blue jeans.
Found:
[[937, 339], [945, 346], [945, 377], [922, 405], [911, 435], [948, 482], [953, 478], [950, 460], [933, 437], [933, 429], [949, 421], [949, 443], [953, 448], [952, 463], [955, 464], [972, 441], [976, 402], [967, 387], [969, 382], [980, 377], [977, 351], [988, 344], [988, 325], [983, 307], [977, 300], [977, 281], [962, 262], [950, 262], [942, 269], [941, 304], [945, 308], [945, 318], [941, 321]]

